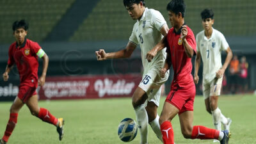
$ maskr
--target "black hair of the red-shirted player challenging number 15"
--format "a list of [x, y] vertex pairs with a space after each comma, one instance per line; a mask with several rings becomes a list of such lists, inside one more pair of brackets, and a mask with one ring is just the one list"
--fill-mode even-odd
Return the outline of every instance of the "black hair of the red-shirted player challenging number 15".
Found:
[[172, 0], [167, 4], [166, 10], [172, 11], [175, 14], [180, 12], [182, 17], [185, 17], [186, 4], [184, 0]]

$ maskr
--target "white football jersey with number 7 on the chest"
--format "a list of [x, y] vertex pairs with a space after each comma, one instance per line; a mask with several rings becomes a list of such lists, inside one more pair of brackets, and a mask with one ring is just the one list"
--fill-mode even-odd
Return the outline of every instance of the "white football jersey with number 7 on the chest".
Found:
[[209, 39], [204, 31], [196, 35], [196, 51], [200, 52], [204, 63], [203, 83], [209, 83], [216, 77], [216, 72], [222, 67], [221, 51], [226, 51], [228, 47], [224, 35], [214, 28]]

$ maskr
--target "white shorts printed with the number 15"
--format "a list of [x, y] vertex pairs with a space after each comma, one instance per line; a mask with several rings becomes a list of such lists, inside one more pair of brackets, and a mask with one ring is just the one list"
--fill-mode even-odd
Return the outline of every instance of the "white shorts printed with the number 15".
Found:
[[[139, 84], [139, 87], [147, 93], [147, 102], [154, 102], [157, 106], [159, 106], [160, 102], [161, 86], [167, 81], [169, 70], [164, 78], [159, 73], [159, 70], [148, 70], [147, 74], [143, 74], [142, 81]], [[145, 102], [145, 106], [147, 106], [147, 102]]]

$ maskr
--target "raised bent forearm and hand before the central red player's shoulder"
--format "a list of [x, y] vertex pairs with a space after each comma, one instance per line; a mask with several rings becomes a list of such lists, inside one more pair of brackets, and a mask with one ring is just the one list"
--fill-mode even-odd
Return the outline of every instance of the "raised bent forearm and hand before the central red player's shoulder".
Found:
[[182, 43], [184, 45], [184, 49], [185, 49], [185, 52], [186, 52], [187, 56], [189, 58], [192, 58], [192, 56], [194, 55], [194, 50], [191, 47], [191, 45], [188, 44], [188, 41], [186, 40], [187, 35], [188, 35], [187, 26], [182, 26], [182, 29], [181, 29]]

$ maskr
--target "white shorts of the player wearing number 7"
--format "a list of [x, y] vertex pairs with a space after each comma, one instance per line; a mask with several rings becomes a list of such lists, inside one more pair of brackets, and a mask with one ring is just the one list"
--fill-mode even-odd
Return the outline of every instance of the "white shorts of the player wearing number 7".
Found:
[[204, 99], [209, 98], [210, 96], [219, 96], [221, 92], [222, 79], [213, 79], [210, 83], [203, 84]]

